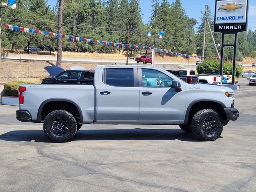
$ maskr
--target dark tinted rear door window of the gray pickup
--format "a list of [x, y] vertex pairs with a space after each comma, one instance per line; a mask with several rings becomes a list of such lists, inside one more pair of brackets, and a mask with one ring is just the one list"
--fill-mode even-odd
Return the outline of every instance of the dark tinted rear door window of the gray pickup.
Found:
[[133, 86], [133, 69], [106, 69], [105, 83], [113, 86]]

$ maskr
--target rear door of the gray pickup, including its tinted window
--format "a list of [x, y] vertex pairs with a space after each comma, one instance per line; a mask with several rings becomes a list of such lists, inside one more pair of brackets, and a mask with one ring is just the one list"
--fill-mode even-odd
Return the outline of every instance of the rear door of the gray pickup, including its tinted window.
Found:
[[96, 121], [138, 120], [139, 99], [137, 68], [109, 67], [99, 71]]

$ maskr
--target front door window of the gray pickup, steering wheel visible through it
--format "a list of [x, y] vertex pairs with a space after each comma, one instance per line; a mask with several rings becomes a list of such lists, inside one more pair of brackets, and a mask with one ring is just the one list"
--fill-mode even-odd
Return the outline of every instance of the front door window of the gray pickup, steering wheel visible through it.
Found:
[[173, 82], [166, 74], [152, 69], [142, 69], [142, 79], [144, 87], [171, 87]]

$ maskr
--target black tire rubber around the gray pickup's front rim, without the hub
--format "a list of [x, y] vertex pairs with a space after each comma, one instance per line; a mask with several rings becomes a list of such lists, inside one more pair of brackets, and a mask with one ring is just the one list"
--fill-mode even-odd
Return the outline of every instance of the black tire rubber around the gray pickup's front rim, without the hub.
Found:
[[[208, 117], [214, 117], [216, 120], [216, 132], [212, 135], [206, 134], [203, 130], [203, 123]], [[223, 125], [221, 117], [217, 112], [212, 109], [203, 109], [194, 114], [191, 122], [191, 128], [192, 132], [199, 140], [214, 141], [221, 135]]]

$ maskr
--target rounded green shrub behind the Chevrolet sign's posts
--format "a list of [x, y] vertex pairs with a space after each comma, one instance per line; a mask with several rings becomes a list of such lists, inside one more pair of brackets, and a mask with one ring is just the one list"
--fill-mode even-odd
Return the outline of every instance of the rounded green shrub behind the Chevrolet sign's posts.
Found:
[[[233, 64], [224, 61], [223, 74], [232, 74]], [[242, 67], [236, 66], [236, 77], [242, 74]], [[220, 74], [220, 61], [216, 59], [206, 59], [196, 66], [198, 74]]]

